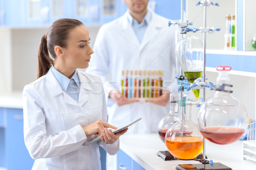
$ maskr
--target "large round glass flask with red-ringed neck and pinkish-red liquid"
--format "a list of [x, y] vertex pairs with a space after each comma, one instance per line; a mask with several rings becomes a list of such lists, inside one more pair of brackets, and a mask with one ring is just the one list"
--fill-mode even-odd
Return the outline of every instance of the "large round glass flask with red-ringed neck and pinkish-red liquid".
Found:
[[230, 144], [238, 140], [247, 129], [247, 113], [229, 91], [228, 66], [218, 66], [217, 85], [224, 91], [216, 91], [198, 111], [198, 126], [203, 136], [216, 144]]

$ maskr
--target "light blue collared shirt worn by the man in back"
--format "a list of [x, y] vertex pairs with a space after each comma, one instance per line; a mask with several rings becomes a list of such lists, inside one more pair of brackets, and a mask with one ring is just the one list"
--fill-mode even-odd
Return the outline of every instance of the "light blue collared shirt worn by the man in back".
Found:
[[145, 31], [148, 27], [148, 24], [150, 23], [150, 20], [151, 20], [151, 12], [148, 10], [147, 14], [145, 15], [145, 17], [143, 18], [140, 24], [137, 22], [137, 20], [134, 20], [134, 18], [131, 16], [129, 12], [127, 16], [128, 16], [128, 22], [131, 24], [138, 40], [141, 43], [143, 40]]

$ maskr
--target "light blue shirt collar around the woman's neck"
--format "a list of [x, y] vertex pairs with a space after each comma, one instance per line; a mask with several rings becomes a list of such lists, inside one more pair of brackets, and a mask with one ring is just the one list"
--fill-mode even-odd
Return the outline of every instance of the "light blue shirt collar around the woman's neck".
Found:
[[[67, 78], [66, 76], [64, 76], [63, 74], [61, 74], [58, 70], [56, 70], [53, 67], [53, 65], [51, 67], [51, 71], [52, 71], [52, 74], [57, 79], [58, 83], [60, 84], [62, 90], [66, 92], [67, 91], [67, 86], [69, 85], [69, 82], [70, 82], [70, 79]], [[75, 71], [75, 73], [73, 74], [71, 79], [74, 79], [74, 81], [76, 82], [76, 85], [78, 86], [78, 88], [80, 88], [80, 81], [79, 81], [79, 77], [78, 77], [78, 74], [77, 74], [77, 70]]]

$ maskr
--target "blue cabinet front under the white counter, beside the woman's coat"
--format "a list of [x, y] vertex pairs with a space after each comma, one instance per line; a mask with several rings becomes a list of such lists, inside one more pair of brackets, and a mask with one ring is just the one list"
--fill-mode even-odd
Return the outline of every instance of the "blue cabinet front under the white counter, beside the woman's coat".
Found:
[[117, 153], [117, 170], [145, 170], [140, 164], [131, 159], [124, 151], [119, 150]]

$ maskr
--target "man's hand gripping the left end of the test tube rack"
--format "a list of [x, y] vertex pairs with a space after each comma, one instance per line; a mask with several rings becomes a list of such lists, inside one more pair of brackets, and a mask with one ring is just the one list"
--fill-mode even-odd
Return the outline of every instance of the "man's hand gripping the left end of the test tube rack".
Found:
[[109, 94], [109, 97], [118, 105], [127, 105], [134, 102], [139, 102], [137, 99], [127, 99], [124, 95], [122, 95], [118, 90], [112, 90]]

